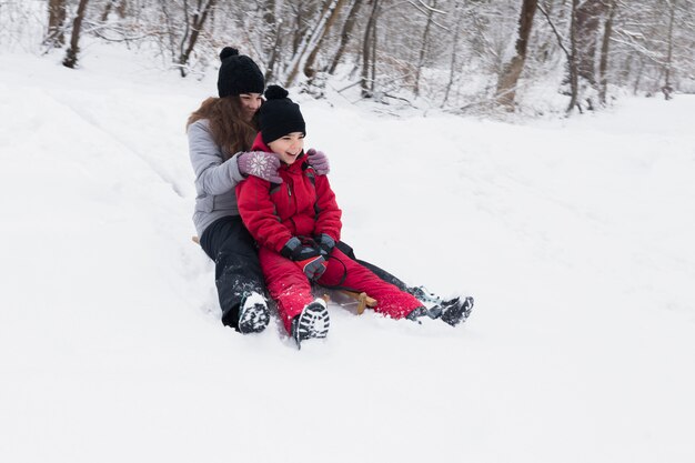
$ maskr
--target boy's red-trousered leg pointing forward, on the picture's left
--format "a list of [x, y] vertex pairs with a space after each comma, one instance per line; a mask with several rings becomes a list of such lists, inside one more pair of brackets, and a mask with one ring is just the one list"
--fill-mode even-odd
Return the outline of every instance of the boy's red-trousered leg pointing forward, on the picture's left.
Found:
[[261, 248], [259, 258], [268, 291], [278, 303], [278, 311], [285, 330], [291, 333], [292, 319], [314, 300], [311, 294], [311, 284], [294, 262], [276, 252]]

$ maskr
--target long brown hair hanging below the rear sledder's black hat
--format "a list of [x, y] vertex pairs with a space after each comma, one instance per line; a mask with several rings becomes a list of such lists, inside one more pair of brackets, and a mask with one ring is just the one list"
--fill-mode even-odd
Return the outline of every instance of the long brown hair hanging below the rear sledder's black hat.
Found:
[[241, 99], [236, 95], [207, 99], [189, 117], [187, 129], [200, 119], [210, 121], [212, 138], [222, 149], [225, 161], [239, 151], [250, 150], [258, 132], [256, 117], [250, 122], [244, 120]]

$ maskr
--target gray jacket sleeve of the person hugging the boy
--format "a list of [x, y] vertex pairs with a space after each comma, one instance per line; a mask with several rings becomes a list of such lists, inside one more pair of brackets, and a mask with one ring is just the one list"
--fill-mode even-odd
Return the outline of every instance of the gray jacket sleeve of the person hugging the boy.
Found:
[[199, 192], [224, 194], [244, 180], [239, 172], [234, 154], [223, 161], [220, 147], [212, 139], [208, 120], [199, 120], [189, 125], [189, 154], [195, 172], [195, 185]]

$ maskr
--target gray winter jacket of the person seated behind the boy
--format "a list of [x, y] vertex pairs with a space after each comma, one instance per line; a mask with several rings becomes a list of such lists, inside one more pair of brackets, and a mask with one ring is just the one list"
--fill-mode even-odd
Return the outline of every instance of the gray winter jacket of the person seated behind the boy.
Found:
[[195, 172], [198, 192], [193, 223], [200, 236], [215, 220], [226, 215], [239, 215], [234, 188], [244, 180], [244, 177], [236, 165], [240, 153], [224, 161], [221, 148], [210, 133], [208, 119], [190, 124], [188, 134], [189, 154]]

